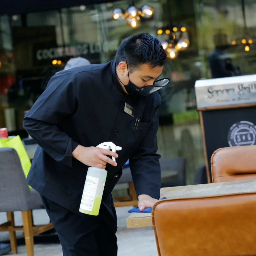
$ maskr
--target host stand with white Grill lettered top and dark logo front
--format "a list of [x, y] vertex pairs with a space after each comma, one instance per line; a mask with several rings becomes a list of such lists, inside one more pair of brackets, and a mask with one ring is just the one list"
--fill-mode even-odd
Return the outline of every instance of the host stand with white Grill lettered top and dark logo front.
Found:
[[196, 81], [207, 180], [218, 148], [256, 145], [256, 75]]

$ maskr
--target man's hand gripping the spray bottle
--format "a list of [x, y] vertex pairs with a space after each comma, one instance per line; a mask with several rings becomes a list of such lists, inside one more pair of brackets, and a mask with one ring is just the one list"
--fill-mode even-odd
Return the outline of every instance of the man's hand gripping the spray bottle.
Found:
[[83, 164], [87, 166], [98, 167], [100, 169], [105, 169], [107, 163], [113, 166], [117, 165], [116, 162], [108, 156], [118, 157], [118, 155], [115, 152], [107, 149], [97, 147], [86, 148], [78, 145], [76, 149], [72, 152], [72, 155]]

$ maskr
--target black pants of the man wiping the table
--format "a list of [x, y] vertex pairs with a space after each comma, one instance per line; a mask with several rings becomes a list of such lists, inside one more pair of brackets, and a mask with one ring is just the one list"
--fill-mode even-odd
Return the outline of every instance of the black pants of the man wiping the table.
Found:
[[117, 256], [117, 218], [112, 196], [101, 203], [98, 216], [85, 218], [41, 195], [60, 238], [63, 256]]

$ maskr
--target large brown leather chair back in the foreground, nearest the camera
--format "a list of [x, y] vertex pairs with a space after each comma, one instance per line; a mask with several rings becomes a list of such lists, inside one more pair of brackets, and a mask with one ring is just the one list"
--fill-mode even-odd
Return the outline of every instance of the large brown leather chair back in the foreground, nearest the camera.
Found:
[[159, 256], [256, 255], [256, 193], [168, 199], [152, 221]]

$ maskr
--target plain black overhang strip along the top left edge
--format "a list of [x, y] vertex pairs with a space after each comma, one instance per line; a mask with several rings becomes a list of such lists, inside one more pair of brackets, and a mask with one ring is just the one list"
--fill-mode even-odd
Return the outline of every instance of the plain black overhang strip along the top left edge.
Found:
[[115, 2], [116, 0], [0, 0], [0, 15], [13, 15], [22, 12], [43, 12], [71, 6]]

